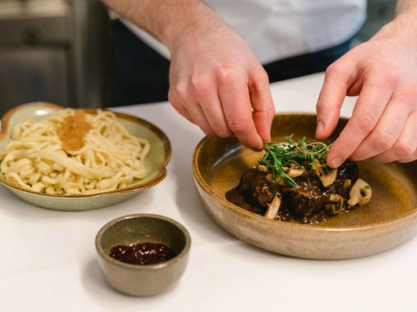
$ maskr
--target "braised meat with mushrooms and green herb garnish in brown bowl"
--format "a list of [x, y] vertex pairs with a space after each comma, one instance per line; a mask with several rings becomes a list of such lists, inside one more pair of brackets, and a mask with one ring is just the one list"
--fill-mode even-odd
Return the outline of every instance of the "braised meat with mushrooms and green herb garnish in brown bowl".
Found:
[[282, 143], [264, 143], [265, 154], [247, 170], [226, 199], [271, 220], [317, 223], [372, 197], [358, 166], [347, 160], [339, 168], [327, 166], [331, 141], [307, 141], [286, 136]]

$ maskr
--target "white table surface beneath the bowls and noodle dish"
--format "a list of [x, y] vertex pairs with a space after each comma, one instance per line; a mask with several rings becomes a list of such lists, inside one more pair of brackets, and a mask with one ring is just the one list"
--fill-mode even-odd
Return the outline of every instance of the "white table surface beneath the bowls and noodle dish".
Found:
[[[323, 74], [271, 85], [277, 111], [314, 111]], [[349, 116], [354, 98], [342, 109]], [[416, 311], [417, 238], [379, 255], [318, 261], [276, 255], [222, 230], [198, 198], [191, 155], [202, 132], [168, 103], [120, 107], [160, 127], [173, 146], [168, 176], [117, 205], [60, 212], [0, 188], [0, 311]], [[106, 284], [95, 255], [102, 225], [158, 213], [192, 238], [185, 274], [155, 297], [129, 297]]]

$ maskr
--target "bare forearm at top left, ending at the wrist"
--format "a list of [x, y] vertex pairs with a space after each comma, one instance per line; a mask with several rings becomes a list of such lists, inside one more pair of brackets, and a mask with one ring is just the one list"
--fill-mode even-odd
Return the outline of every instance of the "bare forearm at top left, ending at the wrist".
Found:
[[[221, 20], [200, 0], [102, 0], [123, 17], [150, 32], [168, 48], [185, 33], [204, 31]], [[197, 31], [196, 31], [197, 30]]]

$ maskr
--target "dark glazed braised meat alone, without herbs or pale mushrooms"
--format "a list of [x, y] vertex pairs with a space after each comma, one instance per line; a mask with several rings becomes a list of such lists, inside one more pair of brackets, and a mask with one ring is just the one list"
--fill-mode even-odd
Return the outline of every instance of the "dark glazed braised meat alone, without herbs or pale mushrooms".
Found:
[[291, 217], [301, 223], [315, 223], [325, 220], [326, 215], [334, 215], [345, 209], [349, 191], [359, 176], [357, 164], [350, 160], [337, 169], [337, 174], [334, 173], [336, 178], [327, 187], [323, 185], [320, 173], [311, 168], [311, 163], [300, 163], [294, 169], [301, 170], [301, 175], [296, 177], [296, 188], [279, 178], [273, 181], [271, 172], [265, 166], [257, 166], [245, 171], [236, 188], [237, 192], [228, 192], [226, 198], [236, 203], [236, 196], [240, 195], [244, 201], [258, 207], [262, 214], [274, 198], [279, 198], [277, 219], [289, 220], [288, 217]]

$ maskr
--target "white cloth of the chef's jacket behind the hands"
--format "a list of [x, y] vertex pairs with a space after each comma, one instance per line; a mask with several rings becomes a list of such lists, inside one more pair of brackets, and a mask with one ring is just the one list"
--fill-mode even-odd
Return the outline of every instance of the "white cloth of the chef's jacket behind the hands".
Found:
[[[263, 64], [316, 52], [351, 38], [366, 19], [366, 0], [206, 0]], [[122, 22], [169, 59], [165, 45]]]

